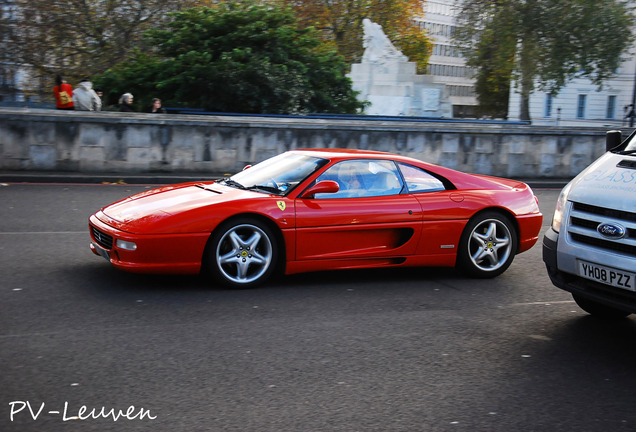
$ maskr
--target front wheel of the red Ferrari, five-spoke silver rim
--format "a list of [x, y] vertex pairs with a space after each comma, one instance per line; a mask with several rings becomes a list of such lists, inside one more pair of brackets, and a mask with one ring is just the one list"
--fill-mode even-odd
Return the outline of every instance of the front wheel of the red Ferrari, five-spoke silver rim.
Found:
[[274, 273], [278, 260], [274, 231], [267, 224], [248, 217], [219, 225], [206, 250], [209, 273], [230, 288], [252, 288], [264, 283]]

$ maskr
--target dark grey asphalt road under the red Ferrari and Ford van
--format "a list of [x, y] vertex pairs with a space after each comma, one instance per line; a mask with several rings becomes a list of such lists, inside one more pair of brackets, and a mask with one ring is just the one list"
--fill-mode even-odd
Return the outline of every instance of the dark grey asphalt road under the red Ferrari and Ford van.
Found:
[[[90, 253], [88, 215], [143, 189], [0, 187], [0, 431], [636, 430], [636, 318], [582, 312], [540, 244], [493, 280], [229, 291]], [[545, 229], [558, 191], [535, 192]]]

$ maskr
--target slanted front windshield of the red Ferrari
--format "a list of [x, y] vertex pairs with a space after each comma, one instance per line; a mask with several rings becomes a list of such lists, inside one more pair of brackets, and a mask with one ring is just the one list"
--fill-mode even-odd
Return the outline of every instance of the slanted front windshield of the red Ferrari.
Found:
[[327, 162], [327, 159], [288, 152], [234, 174], [223, 182], [231, 187], [286, 195]]

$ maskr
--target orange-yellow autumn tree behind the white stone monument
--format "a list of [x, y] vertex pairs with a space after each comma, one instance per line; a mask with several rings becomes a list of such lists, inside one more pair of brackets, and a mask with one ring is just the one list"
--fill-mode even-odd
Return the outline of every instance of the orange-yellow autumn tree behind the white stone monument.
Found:
[[426, 71], [432, 44], [415, 18], [423, 13], [424, 0], [286, 0], [303, 26], [320, 31], [321, 39], [335, 46], [348, 63], [362, 58], [362, 20], [382, 26], [391, 42]]

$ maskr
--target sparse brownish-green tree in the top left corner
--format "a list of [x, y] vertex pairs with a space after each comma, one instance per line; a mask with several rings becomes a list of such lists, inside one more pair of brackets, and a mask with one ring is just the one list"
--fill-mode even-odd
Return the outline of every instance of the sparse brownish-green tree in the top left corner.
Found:
[[[2, 62], [33, 82], [101, 73], [142, 48], [144, 31], [190, 0], [13, 0], [0, 15]], [[8, 13], [10, 12], [10, 13]]]

